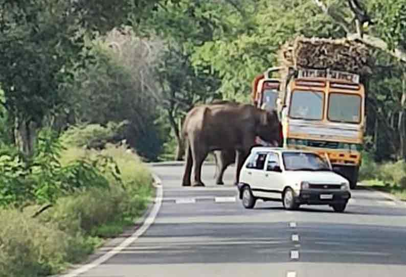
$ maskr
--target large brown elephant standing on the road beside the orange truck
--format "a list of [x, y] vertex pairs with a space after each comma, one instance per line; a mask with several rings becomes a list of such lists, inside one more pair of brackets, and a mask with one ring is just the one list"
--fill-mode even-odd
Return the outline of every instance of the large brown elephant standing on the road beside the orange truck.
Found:
[[255, 138], [279, 144], [280, 128], [276, 110], [265, 111], [252, 104], [220, 101], [192, 108], [186, 115], [182, 135], [186, 145], [186, 164], [182, 186], [205, 186], [201, 166], [216, 150], [235, 149], [238, 182], [242, 164], [256, 144]]

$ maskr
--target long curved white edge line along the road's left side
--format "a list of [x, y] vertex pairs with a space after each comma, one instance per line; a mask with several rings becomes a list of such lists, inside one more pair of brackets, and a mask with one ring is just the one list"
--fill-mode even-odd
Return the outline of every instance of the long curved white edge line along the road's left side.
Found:
[[[155, 183], [159, 183], [158, 181], [155, 181]], [[124, 248], [128, 247], [130, 244], [132, 244], [134, 241], [136, 241], [144, 232], [149, 228], [149, 226], [152, 225], [152, 223], [155, 221], [156, 215], [158, 214], [160, 208], [161, 208], [161, 200], [162, 195], [163, 195], [163, 189], [162, 186], [155, 186], [156, 188], [156, 200], [155, 204], [152, 207], [152, 210], [148, 217], [145, 219], [144, 223], [140, 228], [137, 229], [135, 233], [131, 235], [131, 237], [125, 239], [120, 245], [114, 247], [112, 250], [108, 251], [105, 253], [103, 256], [99, 257], [95, 261], [82, 265], [81, 267], [66, 273], [64, 275], [61, 275], [61, 277], [77, 277], [80, 274], [83, 274], [84, 272], [91, 270], [92, 268], [101, 265], [102, 263], [105, 263], [108, 259], [116, 255], [117, 253], [120, 253]]]

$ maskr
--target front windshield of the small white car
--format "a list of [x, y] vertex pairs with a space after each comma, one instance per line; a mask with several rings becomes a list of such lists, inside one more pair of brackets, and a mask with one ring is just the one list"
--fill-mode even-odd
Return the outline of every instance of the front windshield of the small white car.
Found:
[[282, 154], [285, 170], [330, 171], [327, 161], [315, 153], [285, 152]]

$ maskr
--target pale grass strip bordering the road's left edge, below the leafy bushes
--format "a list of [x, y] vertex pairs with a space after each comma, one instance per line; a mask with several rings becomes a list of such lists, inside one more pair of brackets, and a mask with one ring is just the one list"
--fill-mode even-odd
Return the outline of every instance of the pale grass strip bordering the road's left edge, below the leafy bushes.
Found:
[[32, 218], [38, 205], [23, 211], [0, 209], [0, 277], [39, 277], [57, 274], [84, 260], [105, 239], [123, 233], [145, 211], [153, 196], [152, 176], [137, 155], [124, 147], [103, 151], [69, 147], [62, 165], [79, 157], [112, 157], [122, 182], [106, 174], [108, 189], [91, 188], [64, 196], [46, 212]]

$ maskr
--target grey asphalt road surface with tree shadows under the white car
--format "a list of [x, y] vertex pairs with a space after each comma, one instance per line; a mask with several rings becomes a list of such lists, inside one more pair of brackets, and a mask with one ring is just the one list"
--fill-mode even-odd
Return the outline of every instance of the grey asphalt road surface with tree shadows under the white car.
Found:
[[[153, 167], [163, 198], [146, 232], [84, 277], [392, 277], [406, 273], [406, 205], [358, 189], [343, 214], [328, 206], [245, 210], [231, 185], [182, 188], [182, 166]], [[102, 249], [108, 252], [114, 245]]]

